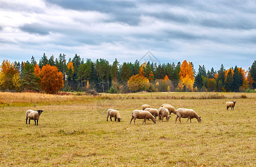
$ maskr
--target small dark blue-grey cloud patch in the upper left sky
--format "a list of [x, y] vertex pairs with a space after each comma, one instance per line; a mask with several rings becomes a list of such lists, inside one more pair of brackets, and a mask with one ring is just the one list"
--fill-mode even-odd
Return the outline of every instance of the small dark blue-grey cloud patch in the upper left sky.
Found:
[[49, 28], [40, 24], [40, 23], [31, 23], [31, 24], [24, 24], [23, 26], [19, 27], [20, 30], [28, 33], [35, 33], [38, 35], [49, 35], [50, 31]]

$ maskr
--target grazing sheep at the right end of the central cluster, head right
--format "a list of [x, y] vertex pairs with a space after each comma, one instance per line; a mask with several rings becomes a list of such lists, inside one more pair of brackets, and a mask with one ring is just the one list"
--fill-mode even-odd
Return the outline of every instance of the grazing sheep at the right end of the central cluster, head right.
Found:
[[[188, 118], [188, 120], [190, 119], [190, 123], [191, 123], [191, 119], [193, 119], [193, 118], [196, 118], [198, 122], [201, 122], [201, 117], [198, 116], [196, 114], [196, 112], [192, 109], [179, 108], [176, 110], [176, 114], [177, 114], [177, 117], [176, 117], [175, 124], [176, 124], [178, 118], [179, 118], [179, 122], [181, 122], [181, 117]], [[187, 120], [187, 122], [188, 122], [188, 120]]]

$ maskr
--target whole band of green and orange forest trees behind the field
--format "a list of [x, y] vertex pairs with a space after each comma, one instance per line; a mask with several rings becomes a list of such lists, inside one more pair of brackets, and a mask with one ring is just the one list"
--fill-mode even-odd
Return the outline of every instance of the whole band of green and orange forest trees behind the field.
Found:
[[39, 63], [32, 56], [26, 62], [3, 60], [0, 66], [0, 90], [16, 92], [88, 91], [107, 93], [127, 92], [256, 92], [256, 61], [249, 69], [220, 65], [219, 70], [206, 70], [192, 62], [140, 63], [136, 60], [112, 64], [104, 58], [92, 61], [81, 59], [77, 54], [66, 60], [60, 53], [58, 58], [45, 53]]

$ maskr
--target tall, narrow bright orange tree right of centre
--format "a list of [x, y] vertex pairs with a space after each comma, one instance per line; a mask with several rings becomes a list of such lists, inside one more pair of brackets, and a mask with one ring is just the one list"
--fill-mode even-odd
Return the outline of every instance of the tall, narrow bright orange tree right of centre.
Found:
[[183, 88], [184, 86], [185, 91], [193, 91], [195, 77], [191, 62], [187, 63], [186, 60], [182, 62], [181, 70], [179, 71], [179, 76], [181, 80], [181, 84], [179, 84], [180, 87]]

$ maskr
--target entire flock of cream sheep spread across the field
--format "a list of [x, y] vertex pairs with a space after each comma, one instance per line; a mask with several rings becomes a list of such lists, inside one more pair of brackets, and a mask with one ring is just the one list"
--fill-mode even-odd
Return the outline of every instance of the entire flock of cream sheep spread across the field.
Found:
[[[231, 107], [231, 110], [234, 110], [235, 107], [235, 103], [236, 101], [227, 101], [226, 102], [226, 109], [228, 110], [229, 107]], [[40, 115], [42, 114], [43, 110], [37, 110], [37, 111], [33, 111], [33, 110], [27, 110], [26, 111], [26, 124], [27, 124], [27, 119], [29, 119], [29, 124], [30, 124], [30, 120], [34, 120], [35, 121], [35, 125], [38, 125], [38, 120], [40, 118]], [[154, 124], [157, 123], [157, 116], [158, 116], [158, 121], [162, 121], [164, 117], [166, 118], [166, 121], [169, 121], [170, 118], [170, 114], [173, 112], [173, 114], [176, 114], [176, 121], [175, 124], [177, 122], [177, 119], [179, 118], [179, 122], [181, 122], [181, 118], [188, 118], [188, 120], [190, 119], [190, 123], [191, 123], [191, 119], [196, 118], [198, 122], [201, 122], [201, 117], [198, 116], [196, 114], [196, 112], [192, 109], [183, 109], [183, 108], [179, 108], [177, 110], [175, 110], [175, 108], [170, 105], [170, 104], [162, 104], [162, 107], [160, 107], [158, 110], [157, 109], [153, 109], [151, 108], [150, 105], [142, 105], [142, 110], [134, 110], [131, 112], [131, 121], [134, 120], [134, 125], [135, 125], [135, 120], [136, 119], [144, 119], [144, 121], [142, 122], [142, 124], [146, 124], [146, 120], [151, 119]], [[119, 111], [114, 110], [114, 109], [108, 109], [107, 110], [107, 121], [108, 121], [108, 116], [110, 116], [110, 120], [112, 121], [112, 117], [115, 118], [115, 121], [117, 120], [118, 122], [121, 121], [121, 116], [119, 114]], [[130, 121], [130, 124], [131, 124]]]

